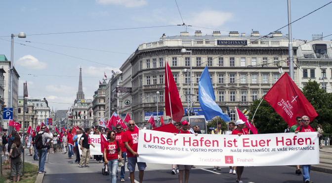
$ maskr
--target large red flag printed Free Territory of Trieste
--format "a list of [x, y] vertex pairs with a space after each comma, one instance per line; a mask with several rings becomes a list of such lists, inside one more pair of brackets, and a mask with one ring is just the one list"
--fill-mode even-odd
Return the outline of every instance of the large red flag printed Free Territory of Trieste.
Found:
[[280, 77], [264, 99], [290, 126], [296, 124], [297, 116], [308, 116], [310, 122], [318, 116], [314, 107], [287, 73]]

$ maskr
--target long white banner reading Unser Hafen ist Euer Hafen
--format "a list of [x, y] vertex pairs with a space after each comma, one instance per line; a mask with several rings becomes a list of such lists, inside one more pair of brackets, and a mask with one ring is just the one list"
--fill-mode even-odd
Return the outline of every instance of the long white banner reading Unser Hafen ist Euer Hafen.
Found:
[[317, 132], [257, 135], [177, 134], [139, 130], [138, 161], [203, 166], [319, 164]]

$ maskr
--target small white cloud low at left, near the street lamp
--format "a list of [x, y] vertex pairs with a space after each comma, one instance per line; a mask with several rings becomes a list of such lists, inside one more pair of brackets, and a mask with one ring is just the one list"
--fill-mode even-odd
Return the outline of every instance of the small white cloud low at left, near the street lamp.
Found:
[[18, 61], [16, 61], [16, 64], [34, 70], [43, 70], [48, 67], [47, 63], [38, 61], [38, 59], [36, 59], [34, 56], [31, 55], [26, 55], [24, 57], [21, 57]]

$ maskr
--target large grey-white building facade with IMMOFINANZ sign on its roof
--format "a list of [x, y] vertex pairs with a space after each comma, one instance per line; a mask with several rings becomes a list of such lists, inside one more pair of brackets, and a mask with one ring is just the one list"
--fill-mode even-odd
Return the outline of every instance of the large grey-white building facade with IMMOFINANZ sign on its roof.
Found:
[[[190, 53], [180, 53], [185, 48]], [[296, 60], [296, 41], [293, 41], [294, 60]], [[132, 118], [138, 124], [146, 121], [145, 112], [156, 112], [157, 99], [159, 111], [165, 107], [165, 63], [168, 62], [182, 105], [187, 108], [187, 84], [192, 65], [193, 109], [200, 108], [198, 99], [198, 81], [207, 65], [212, 81], [216, 103], [225, 112], [230, 108], [231, 120], [236, 120], [235, 107], [248, 109], [254, 100], [261, 98], [281, 74], [277, 64], [284, 72], [289, 72], [288, 38], [281, 32], [272, 36], [259, 36], [258, 31], [250, 35], [230, 32], [221, 35], [214, 31], [212, 35], [195, 35], [181, 32], [177, 36], [166, 37], [159, 41], [140, 44], [130, 58], [132, 66]], [[297, 69], [294, 68], [295, 83], [298, 82]], [[189, 72], [190, 73], [190, 72]], [[160, 94], [157, 95], [156, 92]], [[167, 119], [164, 112], [164, 119]]]

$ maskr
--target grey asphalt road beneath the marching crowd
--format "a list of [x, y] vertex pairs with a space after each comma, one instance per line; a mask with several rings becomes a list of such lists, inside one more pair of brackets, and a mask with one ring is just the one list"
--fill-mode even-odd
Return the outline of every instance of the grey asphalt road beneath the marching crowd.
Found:
[[[29, 152], [26, 150], [26, 154]], [[38, 165], [33, 156], [25, 156], [28, 162]], [[102, 163], [96, 163], [93, 159], [89, 161], [89, 168], [79, 168], [74, 163], [75, 155], [68, 159], [68, 155], [61, 153], [47, 154], [43, 183], [109, 183], [110, 177], [103, 176], [101, 170]], [[195, 164], [195, 163], [193, 163]], [[137, 168], [137, 167], [136, 167]], [[235, 183], [237, 176], [229, 174], [228, 167], [222, 167], [220, 171], [213, 172], [213, 167], [196, 166], [190, 173], [189, 183]], [[126, 169], [127, 171], [127, 169]], [[120, 170], [118, 181], [120, 183]], [[138, 170], [135, 172], [135, 183], [138, 183]], [[129, 174], [126, 172], [125, 182], [130, 183]], [[295, 175], [295, 168], [289, 166], [265, 166], [265, 167], [245, 167], [242, 175], [245, 183], [303, 183], [302, 176]], [[310, 180], [314, 183], [331, 183], [332, 174], [312, 171]], [[171, 165], [148, 163], [144, 171], [143, 183], [178, 183], [178, 176], [171, 174]]]

